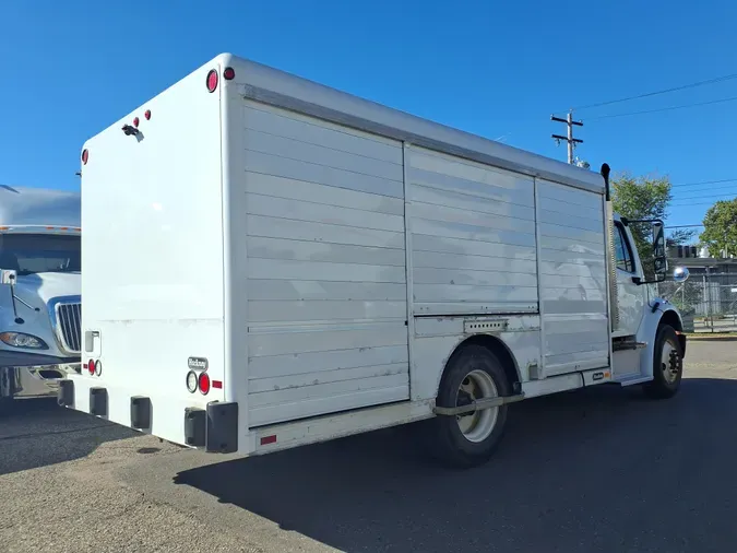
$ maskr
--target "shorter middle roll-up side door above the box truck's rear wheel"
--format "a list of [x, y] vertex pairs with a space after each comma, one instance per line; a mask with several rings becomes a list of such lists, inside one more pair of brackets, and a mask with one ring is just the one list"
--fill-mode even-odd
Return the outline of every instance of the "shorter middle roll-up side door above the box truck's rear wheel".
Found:
[[414, 315], [536, 313], [533, 179], [406, 151]]

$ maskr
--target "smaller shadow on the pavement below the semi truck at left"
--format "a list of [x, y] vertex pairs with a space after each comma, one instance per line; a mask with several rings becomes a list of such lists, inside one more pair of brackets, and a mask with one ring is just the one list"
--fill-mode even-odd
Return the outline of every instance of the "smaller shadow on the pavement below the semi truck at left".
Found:
[[105, 442], [134, 435], [129, 428], [62, 409], [56, 398], [16, 400], [0, 415], [0, 475], [80, 459]]

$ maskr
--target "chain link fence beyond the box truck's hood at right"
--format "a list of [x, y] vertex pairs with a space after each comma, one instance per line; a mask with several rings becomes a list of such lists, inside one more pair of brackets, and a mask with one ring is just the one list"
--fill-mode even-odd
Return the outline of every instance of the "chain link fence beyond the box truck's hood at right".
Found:
[[678, 307], [689, 332], [737, 331], [737, 273], [693, 274], [658, 284], [658, 295]]

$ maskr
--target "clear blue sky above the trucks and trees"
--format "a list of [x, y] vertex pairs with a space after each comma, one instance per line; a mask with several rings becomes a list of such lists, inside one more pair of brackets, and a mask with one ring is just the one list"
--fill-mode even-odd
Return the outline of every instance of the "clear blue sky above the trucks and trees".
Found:
[[[737, 73], [729, 0], [27, 0], [0, 21], [0, 184], [61, 189], [79, 189], [85, 139], [222, 51], [560, 160], [551, 111]], [[733, 96], [737, 79], [582, 110], [576, 153], [674, 184], [737, 179], [737, 102], [594, 119]], [[713, 186], [674, 188], [668, 224], [737, 192]]]

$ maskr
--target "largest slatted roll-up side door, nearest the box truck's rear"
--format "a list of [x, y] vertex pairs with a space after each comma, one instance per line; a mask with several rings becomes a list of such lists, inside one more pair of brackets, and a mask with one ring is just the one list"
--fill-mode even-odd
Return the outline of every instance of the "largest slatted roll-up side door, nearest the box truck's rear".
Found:
[[243, 109], [249, 425], [408, 399], [402, 144]]

